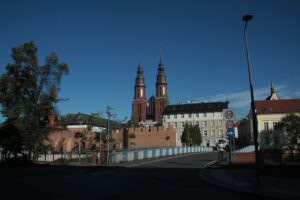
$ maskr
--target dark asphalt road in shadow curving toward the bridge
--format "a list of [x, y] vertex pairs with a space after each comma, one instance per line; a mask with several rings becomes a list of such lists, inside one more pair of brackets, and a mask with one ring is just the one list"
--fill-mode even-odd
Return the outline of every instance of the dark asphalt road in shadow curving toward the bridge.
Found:
[[[129, 167], [39, 166], [0, 168], [1, 199], [263, 199], [200, 179], [216, 154], [138, 163]], [[124, 164], [122, 165], [124, 166]]]

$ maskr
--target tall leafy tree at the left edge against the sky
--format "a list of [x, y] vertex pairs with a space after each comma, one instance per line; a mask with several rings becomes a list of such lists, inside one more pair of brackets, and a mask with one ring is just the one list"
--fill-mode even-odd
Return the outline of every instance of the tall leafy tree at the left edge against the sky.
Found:
[[6, 121], [18, 122], [22, 144], [31, 155], [43, 140], [47, 115], [56, 111], [58, 91], [68, 65], [56, 53], [39, 65], [33, 41], [12, 48], [13, 63], [0, 78], [1, 113]]

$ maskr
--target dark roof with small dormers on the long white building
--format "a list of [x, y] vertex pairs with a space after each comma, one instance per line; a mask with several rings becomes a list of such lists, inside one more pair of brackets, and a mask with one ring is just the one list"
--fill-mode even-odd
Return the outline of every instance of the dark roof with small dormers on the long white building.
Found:
[[222, 112], [223, 109], [228, 108], [228, 101], [226, 102], [209, 102], [209, 103], [188, 103], [168, 105], [163, 115], [169, 114], [186, 114], [186, 113], [205, 113], [205, 112]]

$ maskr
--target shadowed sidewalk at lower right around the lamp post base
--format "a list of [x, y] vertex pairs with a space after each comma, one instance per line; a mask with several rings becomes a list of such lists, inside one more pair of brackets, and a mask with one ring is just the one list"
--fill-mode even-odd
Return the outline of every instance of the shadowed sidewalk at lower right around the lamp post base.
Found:
[[230, 168], [227, 161], [212, 162], [199, 176], [206, 182], [219, 187], [255, 196], [273, 199], [300, 199], [300, 179], [260, 176], [261, 187], [256, 187], [256, 174], [250, 168]]

